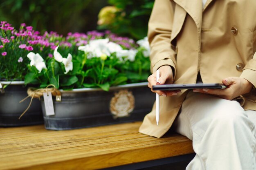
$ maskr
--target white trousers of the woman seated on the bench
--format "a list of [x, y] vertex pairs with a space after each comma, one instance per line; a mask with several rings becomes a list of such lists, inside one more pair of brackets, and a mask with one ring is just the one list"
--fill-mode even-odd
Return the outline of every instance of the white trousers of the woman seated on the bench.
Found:
[[173, 128], [193, 141], [186, 170], [256, 170], [256, 111], [238, 102], [189, 92]]

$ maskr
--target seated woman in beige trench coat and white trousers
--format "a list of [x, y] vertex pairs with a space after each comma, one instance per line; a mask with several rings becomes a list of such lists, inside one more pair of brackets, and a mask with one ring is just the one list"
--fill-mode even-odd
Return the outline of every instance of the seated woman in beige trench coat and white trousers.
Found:
[[[224, 83], [227, 88], [153, 91], [160, 97], [139, 132], [171, 126], [193, 141], [186, 170], [256, 169], [256, 1], [155, 0], [148, 24], [155, 84]], [[160, 71], [156, 82], [156, 70]]]

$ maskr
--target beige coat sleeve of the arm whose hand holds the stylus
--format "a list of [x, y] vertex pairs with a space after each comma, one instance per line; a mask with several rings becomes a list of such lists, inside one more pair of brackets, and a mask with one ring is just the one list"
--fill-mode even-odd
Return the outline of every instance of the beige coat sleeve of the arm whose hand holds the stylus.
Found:
[[150, 43], [150, 70], [154, 73], [160, 66], [169, 65], [176, 73], [175, 51], [171, 48], [174, 3], [172, 0], [155, 0], [148, 22]]

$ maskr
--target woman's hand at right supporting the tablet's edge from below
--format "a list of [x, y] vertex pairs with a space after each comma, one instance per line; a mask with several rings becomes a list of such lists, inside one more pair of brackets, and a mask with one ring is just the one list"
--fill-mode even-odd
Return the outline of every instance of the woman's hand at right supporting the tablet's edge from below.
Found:
[[228, 77], [222, 80], [222, 83], [227, 86], [225, 89], [193, 89], [193, 92], [206, 93], [216, 95], [223, 99], [232, 100], [240, 95], [249, 93], [252, 90], [252, 83], [247, 79], [240, 77]]

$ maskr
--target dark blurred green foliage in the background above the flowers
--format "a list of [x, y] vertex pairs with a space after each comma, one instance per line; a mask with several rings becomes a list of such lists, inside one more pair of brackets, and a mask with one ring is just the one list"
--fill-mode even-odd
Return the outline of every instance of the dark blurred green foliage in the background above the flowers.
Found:
[[[87, 32], [108, 29], [123, 36], [141, 39], [154, 0], [0, 0], [0, 20], [18, 28], [21, 23], [35, 30]], [[98, 14], [105, 6], [118, 8], [112, 22], [97, 26]]]

